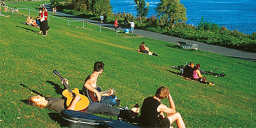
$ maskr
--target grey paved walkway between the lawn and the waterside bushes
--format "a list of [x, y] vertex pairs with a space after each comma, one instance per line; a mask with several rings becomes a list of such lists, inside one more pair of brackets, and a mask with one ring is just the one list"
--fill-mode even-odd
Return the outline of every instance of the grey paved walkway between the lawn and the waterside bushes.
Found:
[[[52, 9], [49, 7], [49, 5], [47, 5], [46, 7], [50, 12], [49, 14], [51, 14]], [[88, 21], [88, 22], [98, 24], [98, 25], [101, 25], [104, 27], [114, 28], [114, 24], [101, 24], [100, 21], [94, 21], [91, 19], [76, 17], [73, 15], [64, 14], [61, 12], [57, 12], [56, 14], [61, 17], [69, 17], [69, 18], [72, 18], [75, 20]], [[121, 26], [121, 27], [122, 28], [118, 29], [118, 30], [124, 31], [124, 27], [123, 26]], [[182, 39], [182, 38], [176, 38], [176, 37], [172, 37], [172, 36], [168, 36], [168, 35], [162, 35], [162, 34], [159, 34], [156, 32], [145, 31], [145, 30], [140, 30], [140, 29], [136, 29], [136, 28], [135, 28], [133, 34], [140, 35], [143, 37], [148, 37], [148, 38], [154, 38], [154, 39], [162, 40], [165, 42], [171, 42], [171, 43], [175, 43], [175, 44], [176, 44], [177, 40], [186, 42], [188, 45], [198, 44], [198, 49], [203, 50], [203, 51], [214, 52], [217, 54], [226, 55], [226, 56], [230, 56], [233, 58], [245, 59], [245, 60], [249, 60], [252, 62], [256, 62], [256, 53], [252, 53], [252, 52], [245, 52], [245, 51], [236, 50], [236, 49], [232, 49], [232, 48], [226, 48], [226, 47], [221, 47], [221, 46], [216, 46], [216, 45], [209, 45], [209, 44], [205, 44], [205, 43], [201, 43], [201, 42], [186, 40], [186, 39]]]

